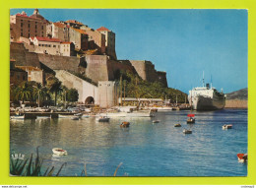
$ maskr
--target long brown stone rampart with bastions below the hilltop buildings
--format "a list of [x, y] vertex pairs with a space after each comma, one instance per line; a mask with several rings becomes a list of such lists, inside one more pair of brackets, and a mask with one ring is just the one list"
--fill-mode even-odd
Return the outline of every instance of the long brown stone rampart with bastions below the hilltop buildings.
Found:
[[40, 63], [52, 70], [66, 70], [82, 73], [94, 82], [114, 81], [121, 71], [138, 74], [143, 80], [160, 82], [167, 87], [166, 73], [156, 71], [151, 61], [145, 60], [110, 60], [106, 55], [86, 55], [86, 57], [68, 57], [29, 52], [24, 43], [11, 43], [10, 57], [17, 65], [40, 68]]

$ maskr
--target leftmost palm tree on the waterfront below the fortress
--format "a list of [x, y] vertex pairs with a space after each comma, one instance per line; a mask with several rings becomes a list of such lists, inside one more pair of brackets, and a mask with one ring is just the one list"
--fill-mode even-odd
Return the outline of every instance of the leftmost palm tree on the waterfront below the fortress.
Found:
[[30, 100], [32, 96], [32, 87], [29, 85], [28, 82], [22, 83], [20, 86], [17, 87], [16, 90], [16, 98], [18, 100]]

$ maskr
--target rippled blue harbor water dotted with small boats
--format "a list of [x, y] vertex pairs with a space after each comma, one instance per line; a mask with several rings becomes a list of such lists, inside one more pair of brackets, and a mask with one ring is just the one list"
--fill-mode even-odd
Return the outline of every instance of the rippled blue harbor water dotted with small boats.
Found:
[[[186, 123], [190, 111], [158, 112], [155, 117], [95, 117], [26, 119], [10, 121], [10, 153], [39, 156], [43, 170], [63, 167], [61, 176], [246, 176], [247, 164], [237, 161], [247, 153], [247, 110], [195, 111], [195, 124]], [[152, 123], [153, 120], [160, 123]], [[120, 128], [129, 121], [129, 128]], [[174, 127], [180, 123], [182, 127]], [[223, 130], [224, 124], [232, 129]], [[192, 134], [183, 134], [183, 129]], [[53, 148], [67, 150], [68, 156], [52, 155]]]

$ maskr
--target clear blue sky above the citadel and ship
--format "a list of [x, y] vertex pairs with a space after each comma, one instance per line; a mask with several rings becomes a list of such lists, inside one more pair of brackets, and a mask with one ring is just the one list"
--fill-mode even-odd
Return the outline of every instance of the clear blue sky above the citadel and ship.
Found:
[[[11, 9], [10, 14], [33, 9]], [[51, 22], [77, 20], [115, 32], [118, 59], [148, 60], [169, 88], [188, 93], [204, 79], [224, 93], [247, 88], [247, 10], [39, 9]]]

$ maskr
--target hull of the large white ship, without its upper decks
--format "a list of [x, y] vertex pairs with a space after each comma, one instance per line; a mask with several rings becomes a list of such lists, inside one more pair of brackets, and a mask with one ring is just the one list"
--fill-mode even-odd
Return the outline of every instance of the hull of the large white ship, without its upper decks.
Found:
[[224, 97], [207, 97], [207, 96], [196, 96], [192, 97], [192, 107], [196, 110], [217, 110], [223, 109], [225, 104]]

